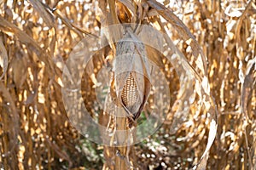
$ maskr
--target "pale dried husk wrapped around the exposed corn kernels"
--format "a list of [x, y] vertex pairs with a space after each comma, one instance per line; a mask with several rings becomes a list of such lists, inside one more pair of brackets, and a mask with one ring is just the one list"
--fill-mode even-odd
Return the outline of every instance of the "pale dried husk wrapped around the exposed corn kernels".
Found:
[[[143, 110], [150, 91], [150, 64], [144, 45], [136, 37], [131, 37], [131, 32], [127, 32], [125, 37], [117, 42], [116, 58], [113, 63], [116, 96], [119, 104], [135, 114], [137, 119]], [[132, 107], [127, 108], [122, 99], [122, 92], [127, 79], [133, 77], [137, 85], [137, 101]]]

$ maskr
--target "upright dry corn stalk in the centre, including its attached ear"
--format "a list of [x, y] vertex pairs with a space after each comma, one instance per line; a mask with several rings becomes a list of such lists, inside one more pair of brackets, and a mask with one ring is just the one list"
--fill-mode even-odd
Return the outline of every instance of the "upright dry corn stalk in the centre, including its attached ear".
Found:
[[[109, 0], [109, 12], [106, 9], [107, 3], [102, 2], [100, 4], [102, 12], [105, 12], [105, 16], [107, 16], [103, 25], [121, 24], [132, 20], [138, 24], [141, 22], [141, 16], [134, 15], [131, 17], [131, 11], [123, 3]], [[130, 7], [137, 8], [136, 3], [129, 3], [128, 1], [126, 3]], [[140, 10], [142, 10], [142, 6], [140, 6]], [[110, 122], [108, 123], [108, 131], [112, 132], [113, 135], [109, 141], [110, 147], [105, 146], [105, 157], [107, 156], [107, 160], [114, 161], [114, 165], [108, 161], [106, 163], [108, 165], [105, 164], [103, 169], [134, 169], [137, 167], [135, 159], [130, 157], [131, 147], [136, 139], [137, 118], [148, 99], [150, 74], [146, 48], [137, 38], [136, 29], [136, 25], [134, 27], [132, 25], [114, 26], [113, 29], [105, 32], [108, 43], [115, 54], [112, 86], [106, 102], [110, 102], [112, 99], [115, 108], [113, 109], [113, 116], [108, 116], [109, 113], [106, 113], [109, 111], [108, 108], [105, 108], [103, 112], [103, 116], [108, 117]], [[125, 35], [120, 34], [122, 31], [125, 31]], [[105, 105], [105, 107], [108, 106]], [[111, 159], [111, 156], [115, 158], [112, 157]]]

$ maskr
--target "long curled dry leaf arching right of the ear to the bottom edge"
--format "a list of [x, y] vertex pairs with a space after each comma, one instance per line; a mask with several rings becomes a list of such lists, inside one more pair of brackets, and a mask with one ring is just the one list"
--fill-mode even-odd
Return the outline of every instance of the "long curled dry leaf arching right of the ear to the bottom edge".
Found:
[[[183, 24], [181, 20], [177, 18], [175, 14], [169, 8], [166, 8], [164, 5], [157, 3], [154, 0], [149, 0], [148, 4], [155, 8], [157, 12], [163, 16], [170, 24], [179, 32], [179, 36], [187, 42], [187, 44], [192, 48], [192, 53], [195, 56], [195, 65], [194, 68], [189, 62], [183, 57], [182, 53], [179, 53], [179, 50], [175, 50], [177, 52], [177, 56], [183, 59], [183, 66], [186, 71], [189, 71], [189, 75], [195, 78], [195, 81], [198, 82], [199, 88], [197, 88], [197, 93], [200, 94], [201, 101], [205, 105], [205, 109], [209, 112], [210, 119], [210, 132], [208, 134], [207, 148], [201, 156], [201, 160], [194, 167], [197, 169], [206, 169], [207, 166], [207, 158], [209, 155], [209, 150], [212, 146], [212, 143], [215, 139], [217, 133], [217, 108], [215, 106], [214, 99], [212, 99], [212, 95], [210, 94], [210, 85], [207, 81], [207, 60], [202, 53], [201, 47], [198, 42], [195, 41], [195, 37], [189, 31], [189, 28]], [[169, 38], [167, 38], [169, 39]], [[175, 48], [171, 41], [169, 40], [170, 48]], [[204, 99], [202, 97], [204, 96]]]

